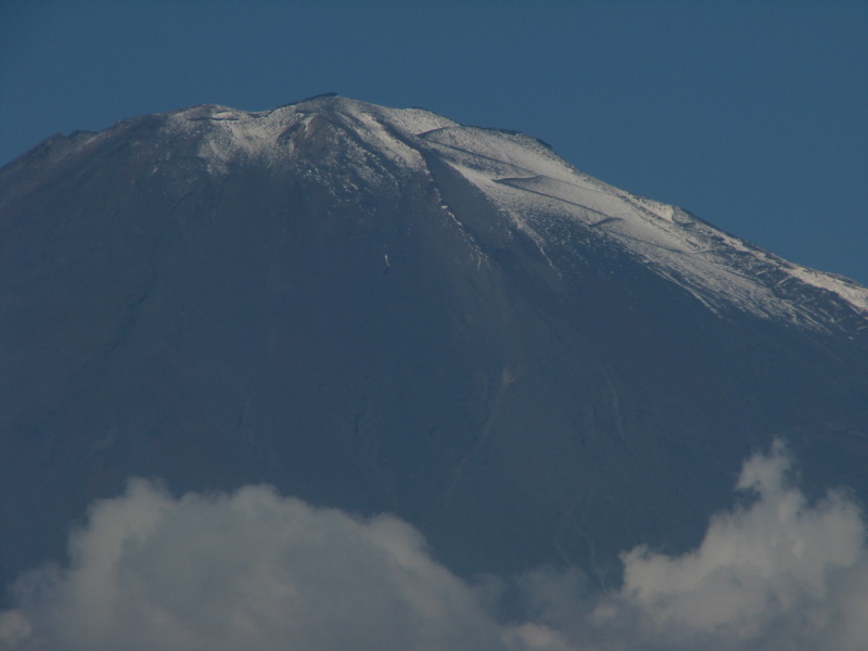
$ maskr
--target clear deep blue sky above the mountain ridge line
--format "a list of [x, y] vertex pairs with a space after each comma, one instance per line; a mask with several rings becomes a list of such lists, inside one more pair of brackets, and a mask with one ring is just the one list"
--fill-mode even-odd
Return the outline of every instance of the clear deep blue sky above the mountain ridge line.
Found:
[[326, 91], [537, 136], [576, 167], [868, 284], [868, 2], [0, 8], [0, 164], [54, 132]]

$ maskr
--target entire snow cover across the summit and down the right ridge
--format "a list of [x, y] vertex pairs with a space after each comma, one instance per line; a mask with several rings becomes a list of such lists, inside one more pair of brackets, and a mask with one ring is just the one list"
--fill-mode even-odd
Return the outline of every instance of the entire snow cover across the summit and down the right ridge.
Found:
[[[626, 251], [718, 314], [735, 307], [819, 331], [868, 314], [868, 289], [791, 264], [676, 206], [584, 175], [526, 135], [462, 126], [422, 108], [388, 108], [336, 95], [259, 113], [194, 106], [166, 118], [170, 136], [199, 139], [197, 155], [215, 174], [226, 174], [232, 162], [291, 156], [295, 145], [290, 136], [312, 132], [327, 120], [355, 137], [342, 141], [337, 164], [375, 180], [372, 156], [401, 174], [423, 170], [422, 152], [434, 152], [547, 257], [552, 247], [580, 247], [583, 239], [593, 237]], [[826, 299], [835, 303], [834, 314], [818, 307]]]

